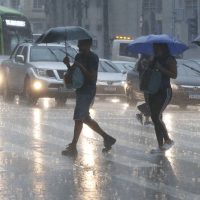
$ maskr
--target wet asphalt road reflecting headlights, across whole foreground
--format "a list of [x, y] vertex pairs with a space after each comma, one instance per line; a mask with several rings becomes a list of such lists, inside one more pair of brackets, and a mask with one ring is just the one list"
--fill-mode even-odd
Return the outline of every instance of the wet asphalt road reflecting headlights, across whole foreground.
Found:
[[124, 102], [96, 101], [92, 116], [117, 143], [102, 153], [102, 139], [84, 126], [76, 158], [61, 155], [73, 133], [74, 101], [49, 99], [36, 107], [0, 101], [0, 200], [199, 200], [200, 107], [164, 115], [176, 145], [165, 155], [152, 126], [141, 126]]

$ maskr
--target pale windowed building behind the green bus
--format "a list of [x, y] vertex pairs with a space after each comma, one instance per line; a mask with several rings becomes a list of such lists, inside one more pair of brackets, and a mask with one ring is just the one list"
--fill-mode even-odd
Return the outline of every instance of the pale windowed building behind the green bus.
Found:
[[0, 0], [0, 5], [19, 10], [29, 19], [33, 33], [46, 30], [45, 0]]

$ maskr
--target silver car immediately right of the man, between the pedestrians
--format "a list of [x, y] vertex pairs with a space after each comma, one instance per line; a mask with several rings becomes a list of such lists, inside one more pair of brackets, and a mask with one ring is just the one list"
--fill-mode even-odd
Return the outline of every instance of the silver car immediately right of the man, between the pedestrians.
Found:
[[115, 64], [109, 60], [100, 59], [97, 80], [97, 96], [125, 97], [125, 80], [126, 75], [121, 73]]

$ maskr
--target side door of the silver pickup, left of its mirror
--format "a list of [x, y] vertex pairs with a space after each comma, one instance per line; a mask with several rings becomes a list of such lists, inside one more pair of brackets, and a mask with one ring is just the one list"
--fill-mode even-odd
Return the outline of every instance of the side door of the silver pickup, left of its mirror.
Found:
[[8, 74], [8, 84], [9, 88], [11, 90], [15, 90], [17, 88], [17, 82], [18, 78], [16, 75], [18, 63], [16, 62], [17, 55], [20, 55], [22, 52], [23, 46], [19, 46], [16, 50], [16, 53], [11, 57], [10, 63], [9, 63], [9, 74]]

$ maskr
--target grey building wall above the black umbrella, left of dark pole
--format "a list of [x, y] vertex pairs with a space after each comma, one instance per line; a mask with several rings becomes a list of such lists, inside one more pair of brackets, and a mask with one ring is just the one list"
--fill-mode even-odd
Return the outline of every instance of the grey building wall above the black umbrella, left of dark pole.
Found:
[[[94, 50], [104, 52], [102, 0], [46, 0], [47, 26], [82, 26], [94, 38]], [[55, 17], [56, 16], [56, 17]]]

